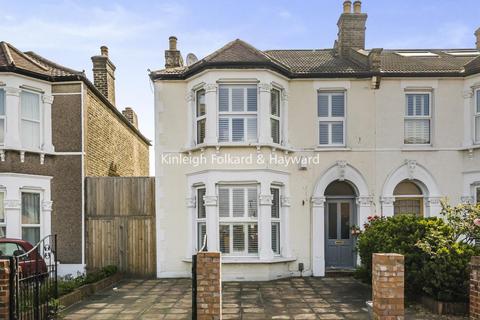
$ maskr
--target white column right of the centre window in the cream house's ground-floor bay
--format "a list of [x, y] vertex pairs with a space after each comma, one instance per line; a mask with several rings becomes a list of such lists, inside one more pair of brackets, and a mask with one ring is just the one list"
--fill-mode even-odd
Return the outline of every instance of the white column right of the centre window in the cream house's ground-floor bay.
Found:
[[[265, 186], [266, 185], [266, 186]], [[268, 190], [266, 190], [268, 189]], [[258, 215], [258, 245], [260, 260], [273, 259], [272, 251], [272, 201], [270, 184], [261, 185], [260, 210]]]

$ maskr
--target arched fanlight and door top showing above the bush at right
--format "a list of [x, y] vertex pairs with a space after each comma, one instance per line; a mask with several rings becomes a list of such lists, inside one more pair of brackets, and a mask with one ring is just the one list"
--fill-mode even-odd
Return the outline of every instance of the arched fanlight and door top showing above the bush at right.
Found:
[[423, 216], [422, 190], [411, 181], [400, 182], [393, 191], [395, 197], [394, 214], [414, 214]]

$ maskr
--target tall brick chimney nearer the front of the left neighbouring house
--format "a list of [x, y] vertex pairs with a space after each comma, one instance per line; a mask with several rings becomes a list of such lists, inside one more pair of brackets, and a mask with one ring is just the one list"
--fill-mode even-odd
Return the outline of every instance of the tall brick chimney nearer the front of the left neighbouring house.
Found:
[[115, 65], [108, 58], [108, 48], [100, 47], [100, 55], [92, 57], [93, 83], [115, 105]]

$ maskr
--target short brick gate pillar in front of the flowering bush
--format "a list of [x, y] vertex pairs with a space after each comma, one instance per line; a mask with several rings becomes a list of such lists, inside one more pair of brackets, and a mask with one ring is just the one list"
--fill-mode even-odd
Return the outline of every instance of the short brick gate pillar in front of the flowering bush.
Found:
[[402, 320], [405, 318], [404, 274], [404, 256], [401, 254], [373, 254], [373, 319]]

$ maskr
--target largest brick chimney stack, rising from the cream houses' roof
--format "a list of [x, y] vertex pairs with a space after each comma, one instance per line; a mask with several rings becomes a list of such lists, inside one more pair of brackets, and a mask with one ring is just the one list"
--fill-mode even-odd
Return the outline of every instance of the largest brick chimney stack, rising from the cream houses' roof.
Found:
[[362, 13], [362, 2], [353, 3], [347, 0], [343, 3], [343, 13], [338, 19], [338, 40], [336, 48], [338, 54], [346, 57], [350, 49], [365, 49], [365, 30], [367, 14]]

